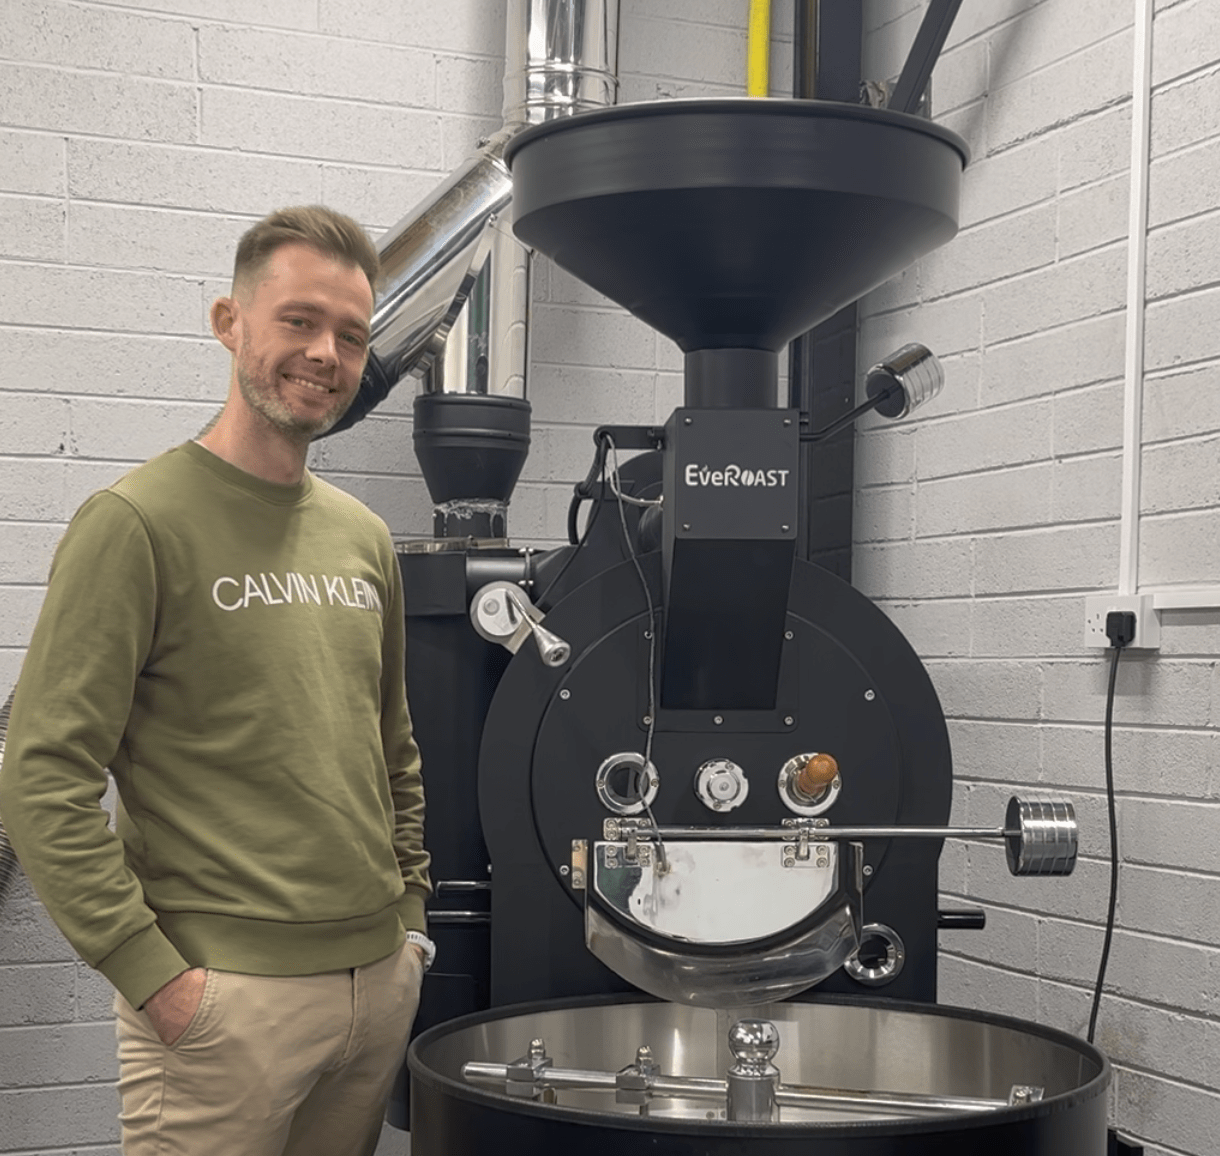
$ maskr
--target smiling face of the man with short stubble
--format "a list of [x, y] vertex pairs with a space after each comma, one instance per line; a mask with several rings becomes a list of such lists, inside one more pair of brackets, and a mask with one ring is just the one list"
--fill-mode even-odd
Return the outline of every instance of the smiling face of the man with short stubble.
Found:
[[234, 304], [231, 349], [251, 417], [294, 440], [329, 429], [368, 356], [373, 294], [364, 271], [310, 245], [281, 245]]

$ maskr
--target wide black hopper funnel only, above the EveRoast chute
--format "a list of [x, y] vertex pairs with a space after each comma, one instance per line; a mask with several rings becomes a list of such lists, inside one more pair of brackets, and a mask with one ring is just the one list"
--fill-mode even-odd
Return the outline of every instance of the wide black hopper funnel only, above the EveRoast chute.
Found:
[[967, 151], [898, 112], [686, 100], [518, 135], [515, 232], [687, 354], [777, 352], [949, 240]]

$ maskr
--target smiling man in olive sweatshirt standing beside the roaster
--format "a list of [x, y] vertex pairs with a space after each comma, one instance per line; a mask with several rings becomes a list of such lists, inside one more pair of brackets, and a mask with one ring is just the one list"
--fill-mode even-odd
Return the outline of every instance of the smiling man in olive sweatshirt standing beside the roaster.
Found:
[[242, 238], [211, 311], [224, 409], [82, 506], [18, 682], [0, 813], [117, 989], [128, 1156], [371, 1154], [415, 1016], [401, 580], [384, 523], [305, 469], [359, 388], [376, 277], [327, 209]]

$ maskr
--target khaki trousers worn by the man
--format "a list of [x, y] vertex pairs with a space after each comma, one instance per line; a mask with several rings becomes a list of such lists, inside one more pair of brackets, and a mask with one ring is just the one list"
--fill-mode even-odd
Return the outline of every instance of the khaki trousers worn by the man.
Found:
[[372, 1156], [421, 979], [407, 944], [320, 976], [209, 971], [170, 1047], [116, 996], [124, 1156]]

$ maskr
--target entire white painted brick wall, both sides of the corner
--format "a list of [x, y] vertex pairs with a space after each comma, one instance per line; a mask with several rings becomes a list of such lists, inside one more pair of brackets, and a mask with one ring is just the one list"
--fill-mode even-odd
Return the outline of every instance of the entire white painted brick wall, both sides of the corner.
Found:
[[[869, 0], [866, 68], [900, 68], [921, 0]], [[963, 230], [874, 294], [861, 362], [906, 340], [946, 393], [858, 438], [859, 587], [908, 633], [950, 719], [955, 818], [1014, 784], [1065, 790], [1083, 858], [1014, 883], [950, 846], [942, 883], [985, 933], [946, 934], [942, 995], [1083, 1030], [1105, 905], [1105, 672], [1082, 595], [1118, 567], [1131, 2], [966, 4], [933, 80], [974, 150]], [[488, 0], [11, 0], [0, 26], [0, 693], [54, 544], [93, 489], [192, 435], [223, 396], [207, 337], [232, 243], [326, 200], [379, 233], [500, 105]], [[623, 0], [625, 100], [739, 91], [744, 0]], [[1211, 0], [1161, 0], [1154, 39], [1142, 576], [1220, 573], [1220, 37]], [[772, 90], [791, 83], [792, 4]], [[511, 511], [564, 537], [592, 426], [664, 418], [665, 339], [538, 262], [534, 450]], [[315, 465], [427, 533], [410, 398]], [[1220, 613], [1166, 615], [1124, 660], [1116, 777], [1127, 866], [1099, 1041], [1114, 1118], [1155, 1156], [1210, 1156], [1220, 1124]], [[24, 882], [0, 912], [0, 1152], [117, 1156], [107, 993]]]

